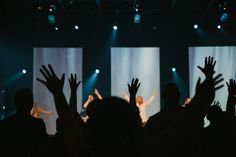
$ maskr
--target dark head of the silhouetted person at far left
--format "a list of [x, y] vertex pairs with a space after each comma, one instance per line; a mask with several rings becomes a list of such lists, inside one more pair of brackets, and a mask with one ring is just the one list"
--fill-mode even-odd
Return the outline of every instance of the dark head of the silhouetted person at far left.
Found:
[[14, 102], [17, 112], [30, 114], [33, 107], [33, 94], [28, 88], [21, 88], [15, 93]]

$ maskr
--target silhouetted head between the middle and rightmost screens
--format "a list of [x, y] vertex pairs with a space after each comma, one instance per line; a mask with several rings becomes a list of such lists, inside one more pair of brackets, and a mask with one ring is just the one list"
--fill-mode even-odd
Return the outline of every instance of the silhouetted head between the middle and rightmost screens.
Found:
[[164, 99], [165, 105], [173, 105], [179, 103], [180, 92], [176, 83], [168, 83], [164, 86], [162, 91], [162, 98]]

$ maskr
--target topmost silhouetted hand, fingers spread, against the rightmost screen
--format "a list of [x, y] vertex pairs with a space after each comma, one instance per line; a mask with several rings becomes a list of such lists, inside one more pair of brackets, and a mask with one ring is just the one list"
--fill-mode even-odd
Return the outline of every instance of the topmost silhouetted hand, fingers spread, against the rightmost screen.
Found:
[[205, 57], [205, 65], [204, 68], [197, 66], [198, 69], [200, 69], [206, 76], [206, 78], [213, 76], [215, 73], [215, 64], [216, 61], [214, 61], [214, 58], [211, 56]]

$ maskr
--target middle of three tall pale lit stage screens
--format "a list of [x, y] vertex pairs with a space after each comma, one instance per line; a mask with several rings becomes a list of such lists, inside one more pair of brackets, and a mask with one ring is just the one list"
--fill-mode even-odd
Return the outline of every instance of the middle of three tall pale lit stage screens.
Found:
[[160, 54], [159, 48], [111, 48], [111, 95], [123, 97], [127, 84], [138, 77], [141, 86], [137, 95], [144, 101], [154, 91], [157, 96], [147, 107], [147, 116], [160, 110]]

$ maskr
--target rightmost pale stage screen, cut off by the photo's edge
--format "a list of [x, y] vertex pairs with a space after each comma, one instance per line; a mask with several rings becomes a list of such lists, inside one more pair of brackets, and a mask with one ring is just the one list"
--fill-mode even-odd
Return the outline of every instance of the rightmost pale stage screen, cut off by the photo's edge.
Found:
[[236, 47], [190, 47], [189, 48], [189, 78], [190, 95], [195, 92], [196, 82], [199, 76], [202, 80], [204, 75], [197, 68], [198, 65], [204, 66], [204, 58], [213, 56], [216, 60], [216, 74], [222, 73], [224, 77], [224, 87], [216, 92], [215, 100], [220, 101], [223, 110], [226, 109], [228, 89], [226, 81], [230, 78], [236, 79]]

